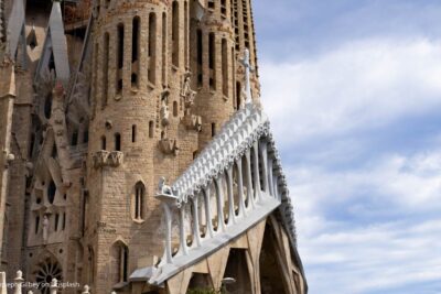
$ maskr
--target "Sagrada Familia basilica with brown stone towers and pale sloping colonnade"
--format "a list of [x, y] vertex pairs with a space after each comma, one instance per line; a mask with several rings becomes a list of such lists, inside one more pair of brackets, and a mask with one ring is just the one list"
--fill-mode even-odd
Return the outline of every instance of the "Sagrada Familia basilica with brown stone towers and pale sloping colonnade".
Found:
[[0, 0], [0, 253], [1, 294], [308, 293], [251, 0]]

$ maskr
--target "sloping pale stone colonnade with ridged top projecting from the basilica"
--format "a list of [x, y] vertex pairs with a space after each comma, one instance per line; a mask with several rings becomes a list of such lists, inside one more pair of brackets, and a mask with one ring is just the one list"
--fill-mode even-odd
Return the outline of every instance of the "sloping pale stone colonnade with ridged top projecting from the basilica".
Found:
[[165, 233], [163, 257], [149, 280], [154, 285], [215, 252], [282, 203], [291, 213], [266, 117], [252, 106], [237, 112], [171, 187], [160, 184], [157, 197]]

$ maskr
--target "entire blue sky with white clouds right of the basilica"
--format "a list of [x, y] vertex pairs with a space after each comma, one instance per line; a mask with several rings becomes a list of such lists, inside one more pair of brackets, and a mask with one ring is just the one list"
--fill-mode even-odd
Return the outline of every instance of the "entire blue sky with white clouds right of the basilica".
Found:
[[441, 293], [441, 1], [255, 0], [310, 294]]

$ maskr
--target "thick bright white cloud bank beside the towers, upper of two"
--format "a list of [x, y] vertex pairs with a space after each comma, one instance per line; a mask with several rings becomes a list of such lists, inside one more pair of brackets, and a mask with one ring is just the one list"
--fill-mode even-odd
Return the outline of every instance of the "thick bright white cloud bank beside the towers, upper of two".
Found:
[[441, 107], [439, 41], [362, 40], [260, 68], [263, 106], [286, 144], [381, 128]]

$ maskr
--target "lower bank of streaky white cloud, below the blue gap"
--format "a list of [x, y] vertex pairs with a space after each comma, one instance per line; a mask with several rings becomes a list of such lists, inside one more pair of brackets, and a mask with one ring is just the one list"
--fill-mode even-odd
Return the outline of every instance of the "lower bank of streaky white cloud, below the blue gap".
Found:
[[312, 294], [441, 280], [441, 152], [389, 154], [343, 172], [288, 167]]

